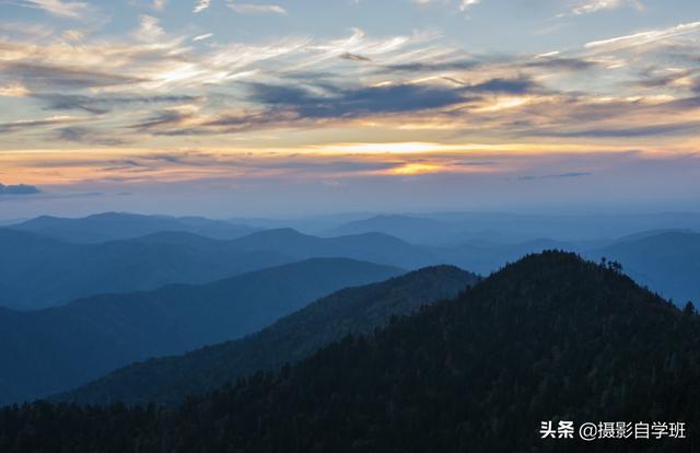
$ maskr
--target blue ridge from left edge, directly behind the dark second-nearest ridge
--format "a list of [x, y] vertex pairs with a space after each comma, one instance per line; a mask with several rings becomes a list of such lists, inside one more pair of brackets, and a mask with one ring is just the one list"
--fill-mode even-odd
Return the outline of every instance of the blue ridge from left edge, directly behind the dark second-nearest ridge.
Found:
[[0, 311], [0, 403], [55, 394], [118, 367], [252, 334], [395, 267], [318, 258], [203, 286], [102, 294], [35, 312]]

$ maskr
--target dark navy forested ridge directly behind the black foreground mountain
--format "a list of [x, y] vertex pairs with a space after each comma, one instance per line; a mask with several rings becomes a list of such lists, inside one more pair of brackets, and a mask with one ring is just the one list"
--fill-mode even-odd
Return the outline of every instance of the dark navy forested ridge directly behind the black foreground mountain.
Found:
[[135, 363], [59, 395], [79, 404], [155, 402], [173, 405], [188, 395], [212, 392], [257, 370], [277, 370], [348, 334], [369, 333], [392, 316], [453, 298], [478, 277], [452, 266], [423, 268], [364, 287], [347, 288], [242, 339], [184, 356]]

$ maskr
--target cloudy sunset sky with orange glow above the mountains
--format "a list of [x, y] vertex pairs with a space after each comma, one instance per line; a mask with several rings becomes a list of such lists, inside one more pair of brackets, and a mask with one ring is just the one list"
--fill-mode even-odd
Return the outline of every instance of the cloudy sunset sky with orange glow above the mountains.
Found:
[[700, 211], [700, 2], [0, 0], [0, 219]]

